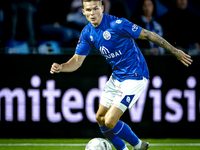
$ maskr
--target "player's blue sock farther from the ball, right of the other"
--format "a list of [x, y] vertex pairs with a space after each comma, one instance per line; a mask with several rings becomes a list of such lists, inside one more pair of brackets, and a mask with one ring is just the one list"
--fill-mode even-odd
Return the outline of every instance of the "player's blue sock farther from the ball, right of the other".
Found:
[[112, 132], [129, 142], [129, 144], [132, 146], [135, 146], [139, 143], [139, 138], [135, 135], [131, 128], [121, 120], [117, 122], [115, 127], [112, 129]]

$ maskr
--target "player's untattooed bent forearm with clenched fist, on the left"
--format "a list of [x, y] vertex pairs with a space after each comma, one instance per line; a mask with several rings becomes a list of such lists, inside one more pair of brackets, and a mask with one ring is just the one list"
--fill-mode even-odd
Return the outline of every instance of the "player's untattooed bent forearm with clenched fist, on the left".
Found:
[[60, 72], [73, 72], [76, 71], [83, 63], [85, 55], [77, 55], [74, 54], [71, 59], [69, 59], [66, 63], [57, 64], [53, 63], [51, 66], [50, 73], [60, 73]]

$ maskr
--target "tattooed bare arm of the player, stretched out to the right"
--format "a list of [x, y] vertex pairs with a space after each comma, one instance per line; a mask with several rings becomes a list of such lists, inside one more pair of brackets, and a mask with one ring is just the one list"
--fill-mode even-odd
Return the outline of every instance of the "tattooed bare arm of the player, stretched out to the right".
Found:
[[189, 55], [185, 54], [182, 50], [173, 47], [165, 39], [154, 32], [148, 31], [143, 28], [138, 39], [149, 40], [154, 44], [164, 48], [165, 50], [171, 52], [174, 56], [176, 56], [176, 58], [187, 67], [192, 64], [192, 59]]

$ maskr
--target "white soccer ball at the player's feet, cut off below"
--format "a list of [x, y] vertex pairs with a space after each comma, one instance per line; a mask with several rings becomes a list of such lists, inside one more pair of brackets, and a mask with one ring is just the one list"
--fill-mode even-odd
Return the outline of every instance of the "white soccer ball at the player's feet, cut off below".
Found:
[[112, 150], [112, 148], [107, 140], [94, 138], [87, 143], [85, 150]]

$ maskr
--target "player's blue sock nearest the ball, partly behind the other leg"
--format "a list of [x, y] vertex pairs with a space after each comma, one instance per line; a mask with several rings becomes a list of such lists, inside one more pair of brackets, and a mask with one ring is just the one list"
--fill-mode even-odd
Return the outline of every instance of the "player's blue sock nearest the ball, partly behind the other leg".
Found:
[[115, 134], [113, 134], [113, 132], [110, 129], [108, 129], [105, 125], [100, 126], [100, 129], [103, 135], [113, 144], [113, 146], [117, 150], [123, 150], [126, 147], [124, 141]]

